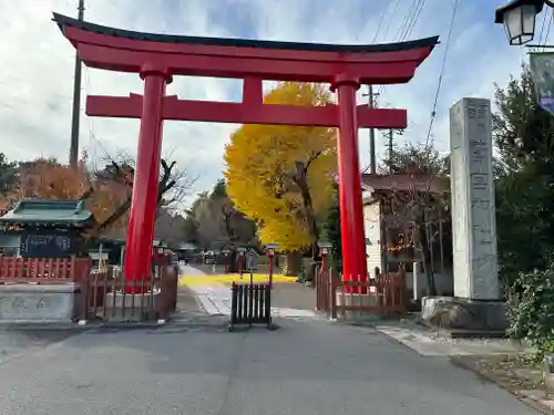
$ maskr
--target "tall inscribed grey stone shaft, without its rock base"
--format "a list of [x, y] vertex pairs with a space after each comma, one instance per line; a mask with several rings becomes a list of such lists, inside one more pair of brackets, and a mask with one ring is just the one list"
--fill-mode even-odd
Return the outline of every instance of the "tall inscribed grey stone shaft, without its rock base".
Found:
[[454, 295], [497, 300], [491, 103], [462, 98], [450, 110]]

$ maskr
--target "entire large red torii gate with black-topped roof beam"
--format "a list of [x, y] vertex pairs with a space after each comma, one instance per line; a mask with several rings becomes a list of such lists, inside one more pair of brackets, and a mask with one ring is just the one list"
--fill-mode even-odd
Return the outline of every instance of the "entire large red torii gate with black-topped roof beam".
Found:
[[[144, 81], [143, 95], [86, 98], [90, 116], [141, 120], [124, 261], [127, 280], [143, 281], [151, 273], [164, 120], [337, 127], [343, 276], [347, 281], [367, 280], [358, 128], [406, 128], [407, 112], [357, 105], [356, 92], [362, 84], [410, 81], [439, 43], [438, 37], [335, 45], [150, 34], [58, 13], [53, 20], [85, 65], [137, 73]], [[176, 75], [244, 80], [243, 102], [167, 96], [165, 87]], [[264, 104], [263, 81], [329, 83], [338, 105]]]

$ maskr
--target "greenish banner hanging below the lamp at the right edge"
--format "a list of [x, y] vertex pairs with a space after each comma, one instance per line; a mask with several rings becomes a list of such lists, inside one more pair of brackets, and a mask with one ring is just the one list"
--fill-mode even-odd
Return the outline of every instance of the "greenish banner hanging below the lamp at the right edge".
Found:
[[530, 69], [538, 106], [554, 115], [554, 53], [530, 53]]

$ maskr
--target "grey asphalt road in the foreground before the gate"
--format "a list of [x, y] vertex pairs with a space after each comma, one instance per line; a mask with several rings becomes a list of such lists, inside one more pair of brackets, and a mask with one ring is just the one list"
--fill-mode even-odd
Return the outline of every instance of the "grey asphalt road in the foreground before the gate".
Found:
[[86, 332], [0, 365], [10, 415], [536, 415], [371, 329]]

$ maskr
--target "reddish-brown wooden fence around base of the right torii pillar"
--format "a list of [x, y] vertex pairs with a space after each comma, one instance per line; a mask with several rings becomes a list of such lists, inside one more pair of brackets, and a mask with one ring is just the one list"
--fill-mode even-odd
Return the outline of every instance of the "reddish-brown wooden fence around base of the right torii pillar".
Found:
[[404, 272], [377, 273], [368, 281], [346, 281], [331, 269], [316, 273], [316, 308], [330, 319], [407, 313]]

